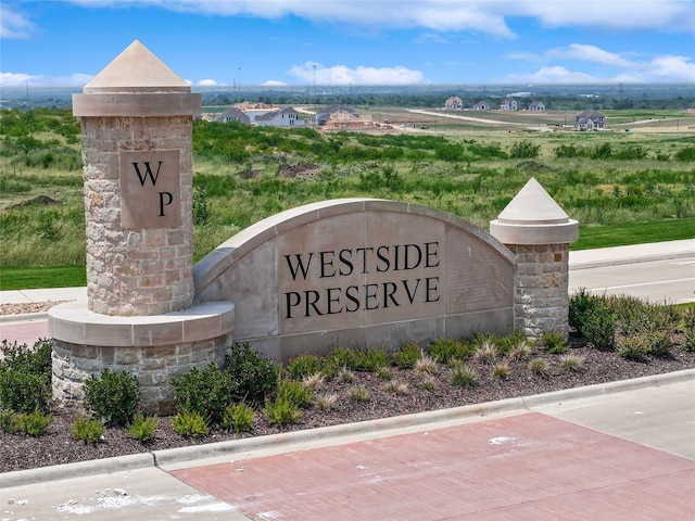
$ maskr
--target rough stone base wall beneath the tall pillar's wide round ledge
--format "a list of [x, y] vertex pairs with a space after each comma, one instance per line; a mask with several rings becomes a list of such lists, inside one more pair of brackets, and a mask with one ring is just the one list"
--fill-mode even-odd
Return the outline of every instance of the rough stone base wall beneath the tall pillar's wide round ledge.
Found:
[[79, 345], [53, 341], [53, 398], [83, 401], [84, 386], [91, 376], [109, 368], [137, 374], [140, 402], [148, 415], [175, 412], [170, 379], [211, 361], [220, 365], [229, 353], [231, 333], [211, 340], [149, 347]]

